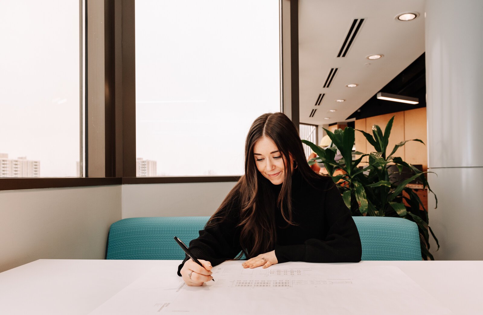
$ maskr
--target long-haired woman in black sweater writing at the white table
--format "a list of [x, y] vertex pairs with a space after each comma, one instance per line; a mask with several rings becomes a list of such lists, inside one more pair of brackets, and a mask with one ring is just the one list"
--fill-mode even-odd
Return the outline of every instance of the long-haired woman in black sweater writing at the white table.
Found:
[[203, 267], [188, 258], [179, 266], [188, 286], [211, 281], [213, 266], [243, 254], [244, 268], [267, 268], [286, 261], [358, 262], [362, 252], [341, 194], [330, 177], [311, 170], [297, 128], [283, 113], [263, 114], [252, 124], [245, 175], [189, 245]]

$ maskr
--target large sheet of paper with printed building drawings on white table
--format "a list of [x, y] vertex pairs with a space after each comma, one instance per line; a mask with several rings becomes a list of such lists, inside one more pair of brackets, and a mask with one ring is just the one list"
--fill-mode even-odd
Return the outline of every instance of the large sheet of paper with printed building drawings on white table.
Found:
[[213, 268], [202, 287], [153, 269], [92, 314], [452, 314], [394, 266], [288, 262]]

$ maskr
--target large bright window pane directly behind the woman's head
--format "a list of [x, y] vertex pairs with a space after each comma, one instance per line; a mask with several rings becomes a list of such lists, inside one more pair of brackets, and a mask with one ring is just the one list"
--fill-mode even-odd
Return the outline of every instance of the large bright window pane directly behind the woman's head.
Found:
[[251, 123], [281, 110], [279, 0], [137, 0], [137, 176], [243, 174]]

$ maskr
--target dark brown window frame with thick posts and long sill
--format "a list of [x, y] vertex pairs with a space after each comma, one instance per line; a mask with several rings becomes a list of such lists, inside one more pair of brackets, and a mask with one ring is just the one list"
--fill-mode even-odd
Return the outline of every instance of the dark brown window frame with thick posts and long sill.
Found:
[[[298, 126], [298, 0], [280, 0], [279, 3], [282, 111]], [[80, 5], [82, 8], [82, 0]], [[100, 13], [93, 17], [88, 10]], [[240, 176], [136, 177], [134, 10], [135, 0], [104, 0], [100, 7], [99, 1], [85, 0], [85, 16], [82, 17], [85, 27], [85, 177], [0, 178], [0, 191], [240, 179]], [[96, 36], [101, 37], [100, 25], [104, 30], [103, 38], [92, 41], [96, 31]], [[102, 64], [103, 71], [99, 71]], [[93, 71], [98, 75], [89, 76]], [[91, 120], [96, 123], [89, 124]]]

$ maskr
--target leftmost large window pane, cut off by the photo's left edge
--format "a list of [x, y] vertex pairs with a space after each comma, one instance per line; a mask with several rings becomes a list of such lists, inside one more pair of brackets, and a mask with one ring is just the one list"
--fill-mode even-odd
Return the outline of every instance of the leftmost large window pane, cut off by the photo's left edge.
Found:
[[0, 177], [76, 177], [82, 161], [79, 0], [0, 4]]

